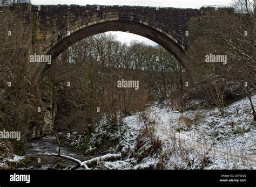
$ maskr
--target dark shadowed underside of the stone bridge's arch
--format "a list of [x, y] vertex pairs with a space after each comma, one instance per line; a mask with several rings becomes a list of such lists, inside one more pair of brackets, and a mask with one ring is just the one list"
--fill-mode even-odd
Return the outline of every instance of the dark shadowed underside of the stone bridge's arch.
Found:
[[[76, 32], [71, 32], [72, 34], [70, 34], [68, 37], [58, 39], [59, 41], [57, 41], [56, 44], [50, 48], [47, 54], [51, 55], [52, 60], [54, 60], [60, 53], [64, 52], [65, 49], [76, 42], [87, 37], [91, 37], [92, 35], [108, 31], [129, 31], [129, 33], [137, 34], [156, 42], [169, 51], [174, 57], [176, 57], [187, 73], [190, 74], [188, 57], [185, 53], [184, 47], [179, 45], [177, 40], [174, 41], [175, 39], [171, 39], [170, 36], [167, 36], [165, 33], [162, 33], [151, 26], [136, 23], [132, 20], [111, 20], [86, 26]], [[46, 64], [45, 68], [48, 69], [49, 65]]]

